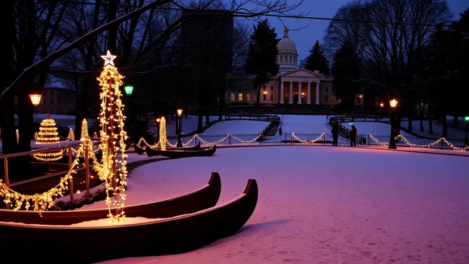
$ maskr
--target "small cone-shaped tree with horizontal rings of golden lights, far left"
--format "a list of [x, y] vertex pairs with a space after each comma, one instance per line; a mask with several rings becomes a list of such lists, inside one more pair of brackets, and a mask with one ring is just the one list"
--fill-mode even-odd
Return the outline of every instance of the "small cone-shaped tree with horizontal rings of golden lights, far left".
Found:
[[[54, 144], [59, 143], [60, 137], [57, 132], [57, 126], [55, 121], [47, 115], [47, 118], [42, 120], [41, 126], [39, 127], [39, 133], [37, 135], [36, 144]], [[35, 153], [34, 158], [41, 162], [54, 162], [62, 158], [62, 151], [48, 151], [45, 153]]]

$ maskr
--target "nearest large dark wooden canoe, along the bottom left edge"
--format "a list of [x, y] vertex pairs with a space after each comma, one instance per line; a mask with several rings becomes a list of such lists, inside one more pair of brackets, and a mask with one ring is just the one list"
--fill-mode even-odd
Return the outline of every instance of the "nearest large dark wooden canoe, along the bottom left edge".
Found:
[[257, 197], [257, 182], [250, 179], [243, 194], [221, 206], [146, 223], [106, 227], [0, 223], [0, 247], [17, 263], [52, 248], [48, 263], [180, 254], [235, 234], [254, 212]]

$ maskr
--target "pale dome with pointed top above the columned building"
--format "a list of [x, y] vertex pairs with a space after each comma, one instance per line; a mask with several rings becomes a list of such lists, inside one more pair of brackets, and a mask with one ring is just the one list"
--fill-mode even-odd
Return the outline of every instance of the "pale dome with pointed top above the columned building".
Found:
[[297, 45], [288, 37], [288, 28], [283, 30], [283, 38], [277, 44], [277, 50], [279, 50], [279, 56], [277, 56], [279, 74], [298, 69]]

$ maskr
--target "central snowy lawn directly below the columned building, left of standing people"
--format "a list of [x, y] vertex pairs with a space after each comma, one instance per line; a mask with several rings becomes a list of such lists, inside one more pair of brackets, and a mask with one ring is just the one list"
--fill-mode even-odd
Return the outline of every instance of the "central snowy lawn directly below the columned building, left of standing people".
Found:
[[281, 129], [283, 133], [330, 133], [326, 115], [283, 115]]

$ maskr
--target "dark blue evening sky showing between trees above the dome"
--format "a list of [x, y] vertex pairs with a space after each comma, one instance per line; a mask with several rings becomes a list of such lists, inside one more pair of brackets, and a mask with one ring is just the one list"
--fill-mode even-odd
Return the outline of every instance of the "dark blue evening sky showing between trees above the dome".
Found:
[[[459, 13], [466, 10], [469, 6], [469, 0], [447, 0], [451, 12], [454, 14], [454, 19], [459, 19]], [[288, 0], [288, 3], [298, 3], [299, 0]], [[304, 13], [309, 12], [309, 17], [334, 17], [335, 12], [350, 0], [304, 0], [299, 10]], [[270, 25], [275, 27], [277, 36], [283, 36], [283, 25], [279, 19], [274, 17], [268, 18]], [[290, 31], [290, 38], [297, 44], [299, 59], [306, 58], [308, 51], [315, 44], [316, 40], [322, 42], [324, 31], [328, 27], [329, 21], [309, 20], [309, 19], [282, 19], [283, 23], [288, 28], [293, 29]], [[308, 25], [308, 23], [310, 23]], [[308, 25], [308, 28], [303, 28]], [[295, 28], [303, 28], [302, 30], [294, 31]]]

